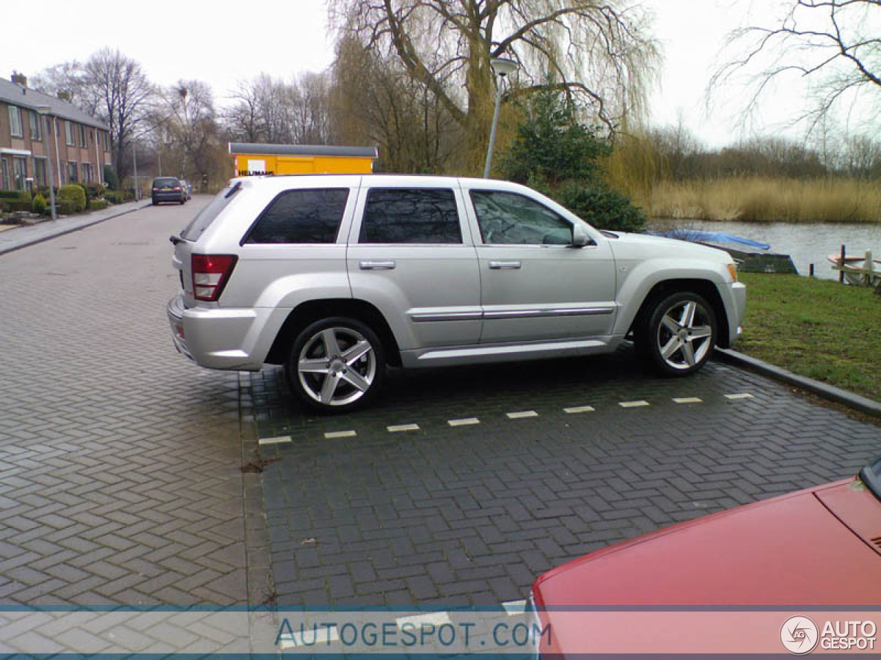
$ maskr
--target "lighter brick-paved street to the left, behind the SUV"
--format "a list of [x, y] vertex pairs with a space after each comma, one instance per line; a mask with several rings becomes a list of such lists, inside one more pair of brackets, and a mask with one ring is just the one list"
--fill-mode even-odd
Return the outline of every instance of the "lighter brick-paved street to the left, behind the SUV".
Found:
[[165, 318], [179, 288], [168, 236], [207, 201], [0, 256], [0, 603], [266, 591], [265, 539], [244, 517], [259, 482], [241, 473], [239, 374], [178, 355]]

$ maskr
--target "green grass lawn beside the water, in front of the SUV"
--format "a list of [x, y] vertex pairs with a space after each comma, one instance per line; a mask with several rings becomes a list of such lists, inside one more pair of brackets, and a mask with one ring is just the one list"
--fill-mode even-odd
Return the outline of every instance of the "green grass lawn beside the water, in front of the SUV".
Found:
[[733, 348], [881, 401], [881, 296], [799, 275], [738, 276], [746, 319]]

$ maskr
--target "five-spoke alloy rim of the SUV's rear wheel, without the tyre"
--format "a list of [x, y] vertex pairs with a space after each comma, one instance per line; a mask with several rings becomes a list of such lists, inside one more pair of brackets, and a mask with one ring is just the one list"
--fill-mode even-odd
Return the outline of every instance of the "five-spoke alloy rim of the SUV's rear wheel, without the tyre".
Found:
[[304, 393], [322, 406], [349, 406], [374, 384], [376, 351], [351, 327], [331, 326], [313, 334], [297, 356]]

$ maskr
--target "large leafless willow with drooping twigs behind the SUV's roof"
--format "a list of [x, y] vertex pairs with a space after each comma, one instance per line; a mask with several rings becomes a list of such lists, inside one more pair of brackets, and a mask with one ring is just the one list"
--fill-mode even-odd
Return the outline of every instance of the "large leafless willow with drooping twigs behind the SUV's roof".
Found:
[[515, 60], [515, 94], [557, 81], [611, 131], [641, 114], [655, 45], [626, 0], [341, 0], [343, 37], [390, 53], [463, 129], [468, 165], [485, 150], [495, 97], [490, 62]]

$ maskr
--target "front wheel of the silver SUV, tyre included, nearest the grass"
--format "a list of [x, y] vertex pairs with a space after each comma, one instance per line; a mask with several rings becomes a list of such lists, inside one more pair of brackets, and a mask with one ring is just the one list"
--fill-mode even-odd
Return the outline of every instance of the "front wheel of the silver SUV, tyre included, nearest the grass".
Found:
[[637, 353], [663, 376], [688, 376], [713, 354], [718, 326], [713, 307], [692, 291], [659, 298], [637, 328]]

